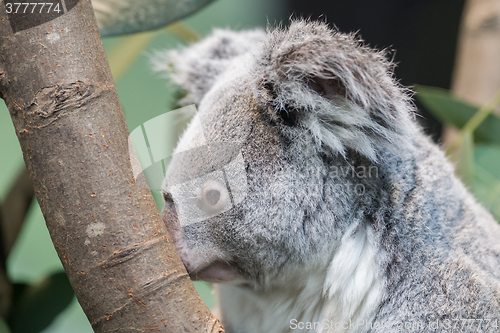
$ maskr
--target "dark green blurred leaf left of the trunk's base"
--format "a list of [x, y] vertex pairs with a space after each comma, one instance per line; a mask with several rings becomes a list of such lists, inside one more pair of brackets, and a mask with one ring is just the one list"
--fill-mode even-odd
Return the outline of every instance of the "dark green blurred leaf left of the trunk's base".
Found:
[[14, 300], [9, 325], [12, 333], [38, 333], [71, 303], [73, 289], [64, 272], [37, 285], [21, 288]]

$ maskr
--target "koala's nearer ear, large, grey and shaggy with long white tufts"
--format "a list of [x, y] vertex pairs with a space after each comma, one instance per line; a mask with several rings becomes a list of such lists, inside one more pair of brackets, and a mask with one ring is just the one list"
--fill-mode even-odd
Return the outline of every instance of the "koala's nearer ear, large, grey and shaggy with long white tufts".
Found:
[[306, 128], [322, 149], [354, 149], [372, 160], [380, 147], [408, 145], [417, 130], [407, 91], [383, 52], [321, 22], [269, 33], [257, 57], [257, 99], [283, 126]]

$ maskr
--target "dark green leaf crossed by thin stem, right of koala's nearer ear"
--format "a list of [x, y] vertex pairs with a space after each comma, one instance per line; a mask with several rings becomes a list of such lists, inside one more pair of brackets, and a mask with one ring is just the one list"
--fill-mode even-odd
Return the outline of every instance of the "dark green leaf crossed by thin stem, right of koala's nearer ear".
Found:
[[[462, 128], [479, 110], [452, 96], [448, 90], [417, 86], [417, 99], [440, 121]], [[490, 114], [474, 131], [478, 142], [500, 144], [500, 118]]]

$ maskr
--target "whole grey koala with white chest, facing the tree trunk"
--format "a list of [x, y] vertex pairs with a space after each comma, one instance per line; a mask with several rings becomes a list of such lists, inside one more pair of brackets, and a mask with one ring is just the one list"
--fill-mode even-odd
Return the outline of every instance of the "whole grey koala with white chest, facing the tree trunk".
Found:
[[157, 61], [196, 104], [162, 216], [226, 331], [497, 332], [500, 227], [386, 54], [322, 22]]

